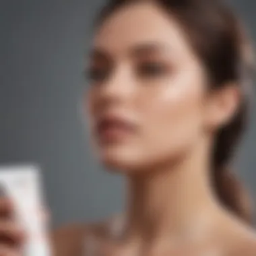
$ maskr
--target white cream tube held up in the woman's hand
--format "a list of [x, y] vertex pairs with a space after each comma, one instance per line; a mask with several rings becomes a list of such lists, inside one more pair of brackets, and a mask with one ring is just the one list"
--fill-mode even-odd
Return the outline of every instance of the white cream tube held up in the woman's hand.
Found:
[[44, 202], [39, 168], [34, 165], [0, 167], [0, 187], [1, 194], [13, 201], [15, 218], [28, 236], [24, 256], [51, 256], [41, 212]]

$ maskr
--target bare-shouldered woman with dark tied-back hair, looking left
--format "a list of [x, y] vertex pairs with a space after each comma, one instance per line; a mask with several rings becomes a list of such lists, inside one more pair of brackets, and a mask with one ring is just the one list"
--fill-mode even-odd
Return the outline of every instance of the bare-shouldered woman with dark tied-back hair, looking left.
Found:
[[[127, 209], [53, 232], [55, 256], [256, 255], [247, 197], [226, 170], [245, 127], [250, 57], [220, 1], [108, 3], [84, 107], [100, 160], [127, 179]], [[1, 223], [1, 255], [20, 255], [20, 232]]]

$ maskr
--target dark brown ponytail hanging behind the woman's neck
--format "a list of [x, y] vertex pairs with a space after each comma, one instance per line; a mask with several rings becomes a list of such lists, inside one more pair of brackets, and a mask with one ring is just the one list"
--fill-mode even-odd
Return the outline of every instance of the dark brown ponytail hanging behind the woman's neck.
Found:
[[236, 216], [251, 224], [253, 214], [250, 197], [236, 174], [226, 167], [245, 130], [247, 108], [246, 104], [241, 104], [233, 121], [221, 129], [216, 137], [213, 181], [220, 202]]

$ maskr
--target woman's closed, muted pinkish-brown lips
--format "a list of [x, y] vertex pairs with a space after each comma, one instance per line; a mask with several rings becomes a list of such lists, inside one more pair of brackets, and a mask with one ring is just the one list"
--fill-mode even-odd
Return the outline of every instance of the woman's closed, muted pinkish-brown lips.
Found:
[[135, 130], [135, 123], [120, 115], [104, 115], [96, 123], [96, 133], [101, 141], [119, 141]]

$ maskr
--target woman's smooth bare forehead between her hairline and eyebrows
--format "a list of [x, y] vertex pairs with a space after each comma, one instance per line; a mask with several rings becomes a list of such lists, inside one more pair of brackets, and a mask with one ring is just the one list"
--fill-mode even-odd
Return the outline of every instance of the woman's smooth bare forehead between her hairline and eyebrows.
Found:
[[136, 44], [168, 46], [174, 53], [190, 53], [179, 22], [154, 3], [135, 3], [122, 7], [107, 18], [94, 37], [94, 46], [119, 55]]

